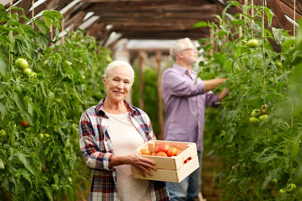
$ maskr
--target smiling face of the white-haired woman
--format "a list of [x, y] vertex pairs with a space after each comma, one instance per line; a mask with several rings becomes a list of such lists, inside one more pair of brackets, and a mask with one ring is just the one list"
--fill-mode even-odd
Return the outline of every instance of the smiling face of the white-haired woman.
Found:
[[128, 95], [132, 84], [132, 71], [126, 66], [113, 69], [106, 79], [103, 77], [106, 93], [110, 101], [122, 102]]

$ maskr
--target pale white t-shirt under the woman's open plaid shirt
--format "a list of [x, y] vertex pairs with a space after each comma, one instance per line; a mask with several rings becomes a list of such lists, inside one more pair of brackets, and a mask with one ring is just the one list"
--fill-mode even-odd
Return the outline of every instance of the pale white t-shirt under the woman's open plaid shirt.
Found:
[[[110, 114], [107, 131], [110, 136], [115, 155], [127, 155], [143, 145], [143, 139], [133, 125], [130, 114]], [[116, 166], [117, 192], [121, 201], [151, 200], [149, 181], [134, 179], [130, 165]]]

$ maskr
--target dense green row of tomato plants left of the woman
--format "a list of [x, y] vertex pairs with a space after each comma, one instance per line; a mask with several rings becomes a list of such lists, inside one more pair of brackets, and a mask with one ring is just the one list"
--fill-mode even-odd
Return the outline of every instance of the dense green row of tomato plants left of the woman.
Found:
[[[30, 20], [0, 5], [0, 130], [6, 132], [0, 136], [0, 194], [12, 200], [75, 200], [90, 178], [78, 149], [78, 124], [84, 110], [104, 97], [97, 78], [109, 52], [83, 31], [69, 32], [62, 44], [61, 18], [44, 11]], [[47, 37], [50, 26], [55, 40]]]

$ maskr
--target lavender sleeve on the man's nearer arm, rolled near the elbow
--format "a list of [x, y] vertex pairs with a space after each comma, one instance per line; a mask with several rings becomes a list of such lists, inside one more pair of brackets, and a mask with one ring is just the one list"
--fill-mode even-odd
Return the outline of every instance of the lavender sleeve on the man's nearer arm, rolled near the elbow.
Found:
[[172, 95], [190, 97], [205, 93], [204, 82], [197, 83], [185, 79], [173, 68], [167, 69], [162, 78], [162, 87], [167, 88]]

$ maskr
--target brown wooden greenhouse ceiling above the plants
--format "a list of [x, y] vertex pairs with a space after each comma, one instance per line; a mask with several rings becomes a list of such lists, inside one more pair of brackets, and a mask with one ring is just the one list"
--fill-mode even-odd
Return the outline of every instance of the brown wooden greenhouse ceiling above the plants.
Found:
[[[253, 1], [253, 2], [252, 2]], [[11, 0], [0, 0], [9, 8]], [[22, 7], [31, 18], [32, 1], [15, 0], [13, 6]], [[165, 39], [209, 37], [208, 28], [192, 28], [200, 21], [215, 22], [214, 15], [221, 16], [227, 0], [36, 0], [34, 16], [44, 10], [57, 10], [64, 15], [64, 30], [85, 30], [102, 44], [115, 44], [119, 39]], [[240, 4], [262, 5], [261, 0], [239, 0]], [[293, 19], [302, 16], [301, 0], [266, 0], [275, 17], [272, 26], [291, 30]], [[295, 3], [295, 15], [294, 15]], [[21, 15], [21, 11], [18, 12]], [[239, 13], [230, 7], [232, 15]], [[22, 19], [21, 19], [22, 20]], [[64, 33], [61, 33], [61, 35]], [[113, 35], [113, 36], [112, 36]], [[108, 44], [109, 38], [111, 43]]]

